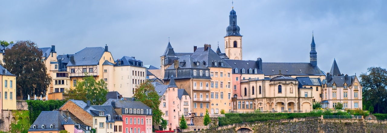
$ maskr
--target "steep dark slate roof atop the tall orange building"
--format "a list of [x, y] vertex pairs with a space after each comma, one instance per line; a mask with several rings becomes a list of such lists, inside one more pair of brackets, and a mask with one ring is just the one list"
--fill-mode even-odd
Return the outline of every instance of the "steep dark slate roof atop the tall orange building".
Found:
[[[192, 57], [197, 61], [205, 61], [205, 66], [207, 67], [223, 67], [223, 68], [231, 68], [230, 65], [226, 63], [222, 58], [219, 57], [210, 47], [204, 49], [204, 47], [197, 48]], [[214, 66], [213, 61], [218, 62], [217, 66]], [[219, 61], [223, 62], [223, 66], [219, 63]]]

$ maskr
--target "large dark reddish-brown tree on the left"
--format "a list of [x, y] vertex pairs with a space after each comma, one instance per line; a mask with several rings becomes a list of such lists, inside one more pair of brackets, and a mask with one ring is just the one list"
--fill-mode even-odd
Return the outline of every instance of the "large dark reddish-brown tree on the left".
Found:
[[42, 61], [42, 51], [32, 41], [17, 41], [5, 51], [4, 67], [16, 75], [17, 96], [46, 96], [52, 78], [47, 75], [47, 68]]

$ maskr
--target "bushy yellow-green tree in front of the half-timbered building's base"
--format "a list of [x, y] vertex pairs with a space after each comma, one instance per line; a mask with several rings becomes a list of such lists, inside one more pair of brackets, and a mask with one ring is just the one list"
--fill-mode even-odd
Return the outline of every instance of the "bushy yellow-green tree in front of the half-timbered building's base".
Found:
[[83, 81], [77, 81], [74, 89], [66, 89], [65, 95], [68, 96], [66, 100], [75, 99], [84, 102], [89, 100], [92, 105], [101, 105], [106, 102], [108, 90], [105, 87], [108, 84], [103, 79], [97, 82], [92, 75], [88, 75], [87, 73], [85, 73], [85, 77], [82, 79]]

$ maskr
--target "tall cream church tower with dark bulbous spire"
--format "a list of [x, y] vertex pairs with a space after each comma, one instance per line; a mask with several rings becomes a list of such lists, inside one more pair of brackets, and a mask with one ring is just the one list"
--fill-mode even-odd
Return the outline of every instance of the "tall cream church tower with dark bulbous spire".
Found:
[[226, 28], [224, 37], [225, 53], [231, 60], [242, 60], [242, 35], [239, 34], [239, 26], [236, 25], [236, 12], [233, 9], [229, 15], [230, 25]]

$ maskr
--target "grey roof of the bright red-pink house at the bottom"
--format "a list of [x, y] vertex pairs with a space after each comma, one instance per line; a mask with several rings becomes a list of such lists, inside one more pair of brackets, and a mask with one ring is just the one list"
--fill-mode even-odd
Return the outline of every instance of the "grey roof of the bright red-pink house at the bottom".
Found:
[[127, 101], [118, 99], [108, 99], [103, 105], [111, 105], [112, 101], [116, 101], [116, 106], [114, 108], [151, 109], [140, 101]]

